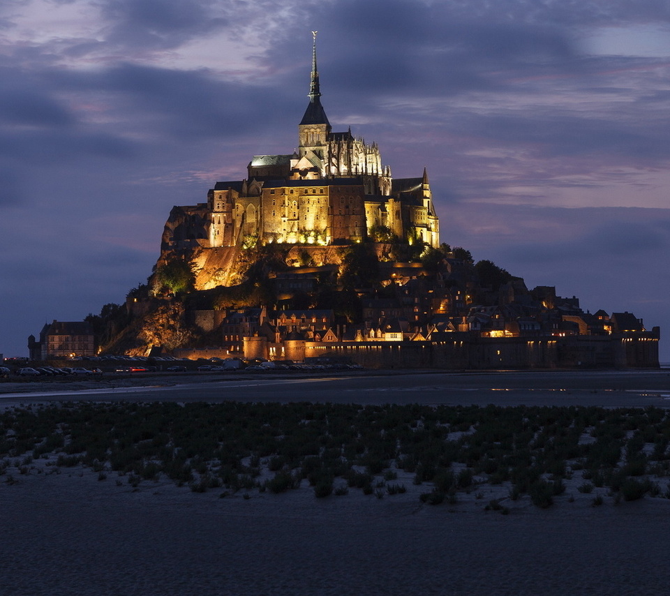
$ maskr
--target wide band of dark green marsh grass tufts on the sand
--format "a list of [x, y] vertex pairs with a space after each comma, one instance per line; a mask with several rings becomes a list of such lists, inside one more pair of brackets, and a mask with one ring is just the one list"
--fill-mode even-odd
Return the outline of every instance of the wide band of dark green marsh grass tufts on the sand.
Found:
[[[127, 475], [135, 488], [165, 477], [196, 492], [232, 493], [282, 493], [307, 479], [315, 495], [341, 491], [334, 488], [341, 479], [347, 489], [383, 496], [404, 488], [392, 483], [403, 470], [426, 485], [421, 498], [430, 504], [478, 490], [483, 478], [509, 483], [511, 500], [527, 494], [548, 507], [574, 470], [580, 492], [590, 485], [620, 500], [660, 496], [649, 476], [668, 475], [669, 444], [670, 417], [657, 408], [228, 402], [0, 412], [0, 474], [82, 465]], [[670, 498], [670, 489], [664, 494]]]

